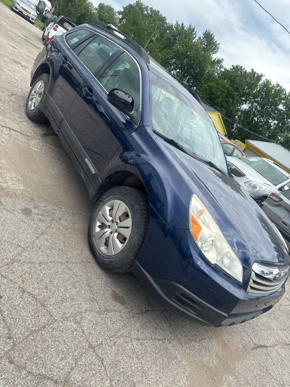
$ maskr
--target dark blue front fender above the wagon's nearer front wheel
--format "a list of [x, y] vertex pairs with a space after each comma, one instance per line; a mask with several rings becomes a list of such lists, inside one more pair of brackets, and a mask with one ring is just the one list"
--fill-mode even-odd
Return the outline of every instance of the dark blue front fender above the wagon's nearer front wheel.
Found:
[[[143, 183], [149, 204], [161, 219], [176, 229], [189, 228], [189, 202], [192, 191], [183, 173], [155, 141], [148, 127], [140, 127], [126, 138], [100, 175], [103, 182], [118, 171], [132, 173]], [[182, 192], [182, 195], [180, 193]]]

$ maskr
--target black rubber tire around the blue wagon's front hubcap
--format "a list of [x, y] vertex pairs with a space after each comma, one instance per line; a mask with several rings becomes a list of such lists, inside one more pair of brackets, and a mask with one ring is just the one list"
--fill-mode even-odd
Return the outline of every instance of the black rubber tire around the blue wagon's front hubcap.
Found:
[[[96, 247], [93, 239], [95, 217], [104, 204], [110, 200], [122, 200], [130, 209], [132, 217], [131, 235], [126, 246], [116, 255], [108, 257]], [[94, 259], [110, 272], [128, 272], [135, 262], [143, 245], [148, 228], [148, 203], [143, 192], [131, 187], [114, 187], [105, 192], [97, 201], [90, 217], [88, 239]]]

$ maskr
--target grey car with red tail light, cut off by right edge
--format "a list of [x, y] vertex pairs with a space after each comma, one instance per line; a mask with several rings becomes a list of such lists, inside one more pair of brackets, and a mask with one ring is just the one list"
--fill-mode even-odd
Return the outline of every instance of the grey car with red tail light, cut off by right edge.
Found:
[[[286, 187], [285, 187], [286, 189]], [[271, 219], [285, 239], [290, 248], [290, 189], [276, 194], [272, 192], [269, 197], [260, 204], [261, 209]]]

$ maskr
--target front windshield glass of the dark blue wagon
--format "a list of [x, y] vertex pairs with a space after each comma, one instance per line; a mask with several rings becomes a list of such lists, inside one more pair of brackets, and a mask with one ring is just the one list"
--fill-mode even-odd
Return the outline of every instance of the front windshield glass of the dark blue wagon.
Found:
[[227, 164], [217, 130], [194, 97], [170, 77], [170, 83], [149, 72], [151, 126], [178, 142], [189, 154], [212, 161], [223, 171]]

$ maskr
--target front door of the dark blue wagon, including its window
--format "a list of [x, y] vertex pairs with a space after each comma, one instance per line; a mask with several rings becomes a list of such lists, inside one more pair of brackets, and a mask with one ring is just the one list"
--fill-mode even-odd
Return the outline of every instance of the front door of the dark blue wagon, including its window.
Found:
[[[103, 43], [102, 50], [107, 51]], [[87, 57], [86, 50], [80, 54], [87, 65], [93, 57]], [[135, 130], [140, 118], [141, 75], [136, 61], [128, 53], [119, 50], [111, 56], [106, 65], [97, 71], [92, 79], [85, 79], [83, 87], [72, 104], [68, 114], [68, 125], [78, 140], [80, 163], [90, 181], [94, 183], [118, 147], [130, 132]], [[107, 100], [111, 89], [118, 88], [134, 99], [137, 112], [135, 122], [125, 116]]]

